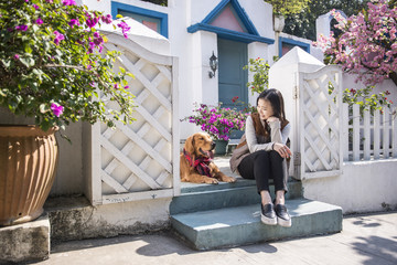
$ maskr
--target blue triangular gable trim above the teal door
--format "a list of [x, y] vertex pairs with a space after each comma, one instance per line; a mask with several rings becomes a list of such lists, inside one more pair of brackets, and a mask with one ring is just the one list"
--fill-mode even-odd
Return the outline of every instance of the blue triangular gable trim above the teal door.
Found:
[[[226, 6], [230, 4], [234, 9], [235, 13], [237, 14], [238, 19], [244, 28], [247, 30], [247, 32], [240, 32], [240, 31], [234, 31], [225, 28], [219, 28], [211, 24], [216, 18], [225, 10]], [[211, 11], [202, 22], [193, 24], [187, 28], [189, 33], [194, 33], [196, 31], [210, 31], [214, 32], [217, 35], [234, 40], [234, 41], [240, 41], [240, 42], [264, 42], [268, 44], [273, 44], [275, 40], [269, 38], [260, 36], [258, 31], [256, 30], [254, 23], [250, 21], [248, 14], [245, 12], [245, 10], [239, 4], [238, 0], [222, 0], [213, 11]]]

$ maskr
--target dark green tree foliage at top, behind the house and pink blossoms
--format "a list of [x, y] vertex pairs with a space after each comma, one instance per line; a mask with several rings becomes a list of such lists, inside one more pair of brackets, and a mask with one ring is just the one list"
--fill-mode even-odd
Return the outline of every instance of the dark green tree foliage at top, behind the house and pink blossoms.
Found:
[[311, 0], [304, 12], [286, 17], [283, 32], [309, 40], [316, 40], [315, 20], [332, 9], [342, 10], [347, 17], [366, 8], [369, 0]]

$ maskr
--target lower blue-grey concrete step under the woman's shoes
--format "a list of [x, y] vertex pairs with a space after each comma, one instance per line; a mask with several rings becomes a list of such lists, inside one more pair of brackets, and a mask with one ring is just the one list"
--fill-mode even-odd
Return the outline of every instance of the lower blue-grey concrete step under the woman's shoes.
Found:
[[260, 222], [259, 203], [194, 213], [173, 214], [172, 227], [196, 250], [213, 250], [264, 241], [342, 231], [342, 209], [307, 199], [288, 200], [291, 227]]

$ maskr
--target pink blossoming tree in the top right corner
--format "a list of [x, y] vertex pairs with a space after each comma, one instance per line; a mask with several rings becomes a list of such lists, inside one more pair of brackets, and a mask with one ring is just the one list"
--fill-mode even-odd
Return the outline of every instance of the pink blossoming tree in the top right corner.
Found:
[[323, 35], [316, 45], [323, 49], [326, 63], [342, 64], [343, 70], [358, 74], [366, 85], [389, 77], [397, 85], [397, 7], [396, 1], [372, 0], [368, 9], [344, 19], [332, 14], [342, 33]]

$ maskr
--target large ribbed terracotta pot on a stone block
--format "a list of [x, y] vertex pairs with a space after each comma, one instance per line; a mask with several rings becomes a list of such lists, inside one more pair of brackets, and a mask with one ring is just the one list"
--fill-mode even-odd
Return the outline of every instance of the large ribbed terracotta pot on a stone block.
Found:
[[0, 125], [0, 226], [43, 213], [58, 160], [55, 131]]

